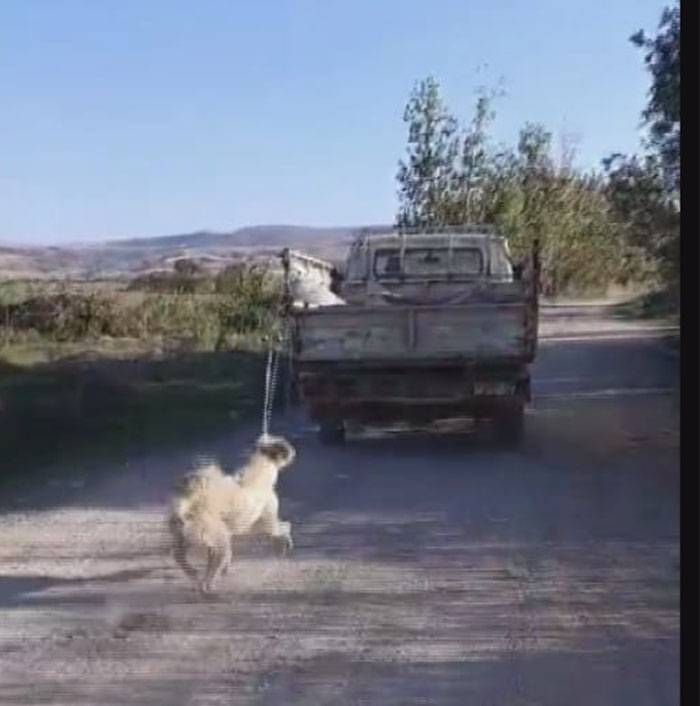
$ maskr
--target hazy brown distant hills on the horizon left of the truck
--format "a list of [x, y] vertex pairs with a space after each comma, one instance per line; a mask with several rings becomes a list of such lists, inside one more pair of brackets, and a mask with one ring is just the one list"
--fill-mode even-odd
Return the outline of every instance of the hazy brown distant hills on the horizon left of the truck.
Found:
[[172, 269], [179, 257], [201, 259], [217, 269], [241, 258], [272, 258], [283, 247], [317, 257], [344, 257], [355, 228], [249, 226], [229, 233], [201, 231], [155, 238], [130, 238], [66, 247], [0, 246], [0, 277], [112, 278]]

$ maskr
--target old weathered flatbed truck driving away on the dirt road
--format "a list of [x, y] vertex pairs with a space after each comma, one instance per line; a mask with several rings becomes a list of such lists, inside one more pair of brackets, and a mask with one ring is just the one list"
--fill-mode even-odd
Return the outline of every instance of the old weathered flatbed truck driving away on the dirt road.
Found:
[[[517, 442], [537, 350], [539, 257], [493, 226], [366, 229], [335, 266], [282, 253], [294, 380], [322, 441], [469, 418]], [[295, 297], [304, 273], [325, 296]], [[311, 301], [310, 301], [311, 300]]]

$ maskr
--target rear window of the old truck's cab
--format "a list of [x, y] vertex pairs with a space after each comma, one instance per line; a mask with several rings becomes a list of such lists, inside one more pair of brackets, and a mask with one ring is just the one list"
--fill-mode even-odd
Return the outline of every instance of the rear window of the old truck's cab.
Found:
[[479, 275], [484, 269], [484, 258], [479, 248], [454, 248], [450, 266], [447, 248], [406, 248], [403, 269], [399, 250], [378, 250], [374, 256], [374, 274], [377, 278], [435, 277]]

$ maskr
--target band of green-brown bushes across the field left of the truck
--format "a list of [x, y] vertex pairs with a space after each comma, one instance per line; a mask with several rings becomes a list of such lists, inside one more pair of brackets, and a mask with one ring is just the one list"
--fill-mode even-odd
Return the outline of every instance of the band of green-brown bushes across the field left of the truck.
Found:
[[[183, 287], [183, 281], [196, 286]], [[197, 288], [206, 293], [193, 291]], [[222, 350], [239, 346], [241, 337], [260, 338], [274, 330], [281, 282], [265, 268], [236, 266], [208, 278], [149, 276], [126, 291], [37, 294], [32, 289], [27, 294], [18, 300], [13, 293], [8, 303], [0, 303], [0, 341], [34, 332], [61, 343], [111, 337], [189, 341], [198, 350]]]

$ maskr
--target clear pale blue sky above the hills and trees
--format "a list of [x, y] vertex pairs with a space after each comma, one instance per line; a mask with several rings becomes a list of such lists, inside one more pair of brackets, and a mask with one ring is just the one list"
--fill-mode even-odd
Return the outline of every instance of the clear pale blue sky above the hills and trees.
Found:
[[[2, 0], [0, 242], [390, 222], [401, 116], [503, 79], [494, 135], [639, 146], [651, 0]], [[558, 137], [555, 137], [558, 139]]]

